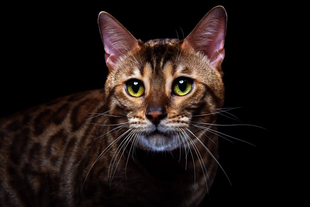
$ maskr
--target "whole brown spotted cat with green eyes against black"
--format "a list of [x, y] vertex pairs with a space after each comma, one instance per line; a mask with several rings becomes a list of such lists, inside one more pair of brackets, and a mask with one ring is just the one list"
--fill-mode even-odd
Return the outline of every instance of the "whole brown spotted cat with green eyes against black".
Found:
[[199, 205], [220, 167], [226, 22], [217, 6], [183, 40], [144, 42], [100, 12], [104, 89], [0, 119], [0, 205]]

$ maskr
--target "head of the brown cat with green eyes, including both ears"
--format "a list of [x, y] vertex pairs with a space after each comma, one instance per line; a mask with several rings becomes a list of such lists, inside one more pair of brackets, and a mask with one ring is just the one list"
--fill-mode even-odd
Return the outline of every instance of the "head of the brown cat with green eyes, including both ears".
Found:
[[[179, 148], [179, 137], [212, 124], [224, 104], [221, 63], [227, 15], [210, 10], [184, 40], [137, 40], [113, 16], [100, 12], [111, 121], [152, 151]], [[123, 123], [123, 125], [121, 125]], [[195, 126], [196, 125], [196, 126]], [[207, 125], [210, 126], [210, 125]]]

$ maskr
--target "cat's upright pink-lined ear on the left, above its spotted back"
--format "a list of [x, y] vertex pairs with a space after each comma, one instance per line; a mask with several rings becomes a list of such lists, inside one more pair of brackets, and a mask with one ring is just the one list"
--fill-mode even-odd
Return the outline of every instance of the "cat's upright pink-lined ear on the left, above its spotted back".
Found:
[[110, 72], [116, 68], [117, 61], [122, 55], [138, 47], [138, 41], [121, 23], [105, 11], [99, 13], [98, 25], [104, 44], [105, 62]]

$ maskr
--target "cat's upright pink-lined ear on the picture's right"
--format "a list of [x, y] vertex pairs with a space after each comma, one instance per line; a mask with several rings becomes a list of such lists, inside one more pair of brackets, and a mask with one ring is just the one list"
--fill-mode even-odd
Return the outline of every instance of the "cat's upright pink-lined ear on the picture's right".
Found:
[[184, 39], [183, 47], [188, 44], [205, 54], [211, 65], [222, 73], [225, 56], [224, 38], [226, 35], [227, 14], [222, 6], [211, 9]]

